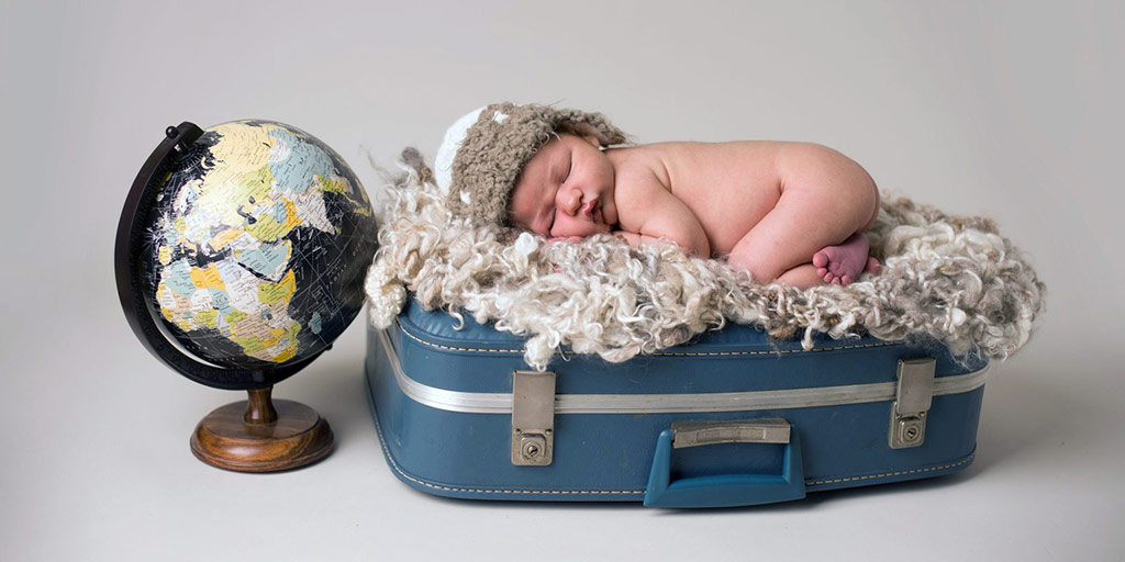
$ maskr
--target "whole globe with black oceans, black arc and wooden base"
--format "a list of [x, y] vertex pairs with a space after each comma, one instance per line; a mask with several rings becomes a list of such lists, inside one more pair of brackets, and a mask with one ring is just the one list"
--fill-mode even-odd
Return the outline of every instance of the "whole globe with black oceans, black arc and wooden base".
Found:
[[142, 166], [117, 225], [117, 292], [137, 338], [172, 370], [249, 400], [200, 420], [191, 452], [223, 469], [304, 466], [327, 422], [272, 387], [332, 345], [363, 305], [371, 203], [312, 135], [266, 120], [184, 121]]

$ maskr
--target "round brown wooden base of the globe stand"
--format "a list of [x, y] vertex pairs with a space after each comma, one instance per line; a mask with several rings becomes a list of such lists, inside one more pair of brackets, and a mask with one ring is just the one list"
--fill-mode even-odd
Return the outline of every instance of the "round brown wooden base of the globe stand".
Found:
[[200, 461], [238, 472], [274, 472], [314, 463], [332, 451], [332, 428], [300, 402], [270, 399], [273, 388], [212, 411], [191, 435]]

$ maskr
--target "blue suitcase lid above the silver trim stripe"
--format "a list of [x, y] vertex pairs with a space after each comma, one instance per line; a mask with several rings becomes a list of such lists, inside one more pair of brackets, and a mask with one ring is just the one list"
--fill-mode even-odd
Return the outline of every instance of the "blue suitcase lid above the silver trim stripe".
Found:
[[[459, 328], [459, 329], [458, 329]], [[374, 328], [372, 328], [374, 329]], [[464, 315], [424, 310], [411, 301], [390, 328], [389, 344], [420, 384], [468, 392], [511, 392], [512, 373], [526, 370], [525, 337], [500, 332]], [[692, 344], [610, 363], [562, 348], [549, 370], [559, 393], [704, 393], [800, 389], [891, 382], [898, 362], [934, 357], [936, 375], [982, 370], [979, 359], [957, 361], [933, 339], [888, 342], [874, 337], [771, 339], [753, 326], [729, 324]]]

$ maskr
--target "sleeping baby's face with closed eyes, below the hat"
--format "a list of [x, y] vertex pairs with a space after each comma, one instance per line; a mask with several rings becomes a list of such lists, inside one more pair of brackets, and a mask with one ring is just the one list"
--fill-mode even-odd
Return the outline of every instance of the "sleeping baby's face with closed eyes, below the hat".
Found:
[[611, 232], [618, 223], [613, 164], [597, 139], [560, 134], [539, 148], [512, 190], [508, 219], [548, 237]]

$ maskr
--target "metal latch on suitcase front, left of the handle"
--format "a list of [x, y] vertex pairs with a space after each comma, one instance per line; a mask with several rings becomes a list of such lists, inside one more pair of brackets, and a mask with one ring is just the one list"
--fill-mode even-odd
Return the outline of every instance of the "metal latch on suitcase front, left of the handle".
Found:
[[512, 373], [512, 464], [547, 466], [555, 448], [555, 373]]

